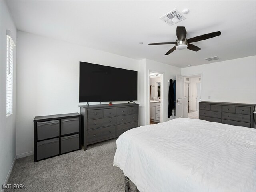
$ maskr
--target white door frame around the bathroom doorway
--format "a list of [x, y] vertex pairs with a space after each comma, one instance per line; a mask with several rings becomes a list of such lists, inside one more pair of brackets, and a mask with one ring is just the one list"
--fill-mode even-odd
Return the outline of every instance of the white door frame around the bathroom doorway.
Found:
[[[164, 122], [164, 72], [153, 70], [153, 69], [148, 69], [148, 80], [147, 80], [148, 86], [150, 86], [150, 76], [149, 76], [150, 72], [161, 74], [161, 92], [160, 92], [161, 118], [160, 118], [160, 122], [162, 123], [162, 122]], [[148, 118], [146, 119], [146, 122], [145, 122], [146, 125], [150, 124], [150, 102], [149, 102], [150, 100], [149, 100], [149, 97], [150, 97], [150, 93], [149, 93], [149, 88], [148, 88], [148, 92], [146, 93], [146, 105], [148, 108]]]

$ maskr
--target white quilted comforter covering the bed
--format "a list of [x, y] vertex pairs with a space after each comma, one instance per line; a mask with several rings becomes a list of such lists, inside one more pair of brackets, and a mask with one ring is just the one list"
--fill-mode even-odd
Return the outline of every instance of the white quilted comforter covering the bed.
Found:
[[174, 119], [126, 131], [114, 166], [143, 191], [256, 191], [256, 130]]

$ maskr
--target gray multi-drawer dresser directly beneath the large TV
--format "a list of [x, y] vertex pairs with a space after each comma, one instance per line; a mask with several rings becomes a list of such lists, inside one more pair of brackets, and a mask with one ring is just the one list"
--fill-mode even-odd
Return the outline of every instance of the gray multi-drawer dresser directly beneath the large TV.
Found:
[[120, 136], [138, 127], [139, 104], [79, 106], [84, 150], [87, 145]]

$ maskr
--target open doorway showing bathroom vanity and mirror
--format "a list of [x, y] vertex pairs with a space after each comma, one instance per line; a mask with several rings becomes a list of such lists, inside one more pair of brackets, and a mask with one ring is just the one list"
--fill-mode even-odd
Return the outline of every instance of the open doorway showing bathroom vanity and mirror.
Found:
[[160, 72], [149, 72], [149, 123], [163, 122], [163, 75]]

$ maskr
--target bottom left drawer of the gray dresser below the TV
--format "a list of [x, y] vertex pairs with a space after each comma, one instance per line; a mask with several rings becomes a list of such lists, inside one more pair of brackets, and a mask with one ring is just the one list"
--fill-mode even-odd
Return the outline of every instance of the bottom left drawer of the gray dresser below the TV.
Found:
[[116, 135], [116, 126], [98, 128], [87, 131], [87, 143], [102, 140]]

